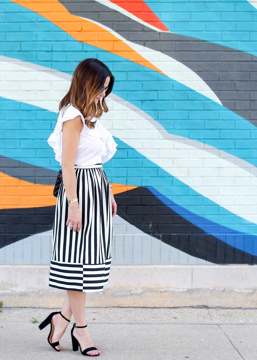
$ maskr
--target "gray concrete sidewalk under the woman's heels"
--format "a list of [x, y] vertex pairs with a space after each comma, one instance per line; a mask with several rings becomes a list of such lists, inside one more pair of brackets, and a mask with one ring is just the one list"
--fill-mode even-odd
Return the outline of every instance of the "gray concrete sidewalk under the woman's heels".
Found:
[[[0, 358], [3, 360], [82, 359], [73, 352], [70, 330], [60, 340], [62, 350], [47, 342], [50, 326], [39, 323], [60, 309], [2, 308]], [[257, 309], [133, 308], [85, 309], [98, 359], [256, 360]]]

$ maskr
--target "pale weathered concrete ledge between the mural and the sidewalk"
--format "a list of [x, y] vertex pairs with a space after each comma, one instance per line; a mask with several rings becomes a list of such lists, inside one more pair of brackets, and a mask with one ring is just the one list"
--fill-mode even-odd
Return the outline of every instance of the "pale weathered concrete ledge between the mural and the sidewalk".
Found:
[[[0, 265], [4, 307], [60, 308], [64, 290], [48, 285], [49, 265]], [[112, 265], [100, 292], [86, 307], [257, 308], [257, 266]]]

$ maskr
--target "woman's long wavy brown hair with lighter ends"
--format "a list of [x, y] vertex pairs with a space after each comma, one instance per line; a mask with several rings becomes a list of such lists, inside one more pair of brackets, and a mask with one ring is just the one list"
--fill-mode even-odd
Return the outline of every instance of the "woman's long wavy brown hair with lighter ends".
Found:
[[[111, 79], [105, 96], [102, 97], [102, 105], [100, 100], [95, 104], [94, 100], [102, 92], [107, 76]], [[86, 125], [94, 129], [95, 122], [91, 122], [91, 119], [99, 118], [109, 110], [105, 98], [112, 92], [113, 84], [114, 76], [102, 61], [95, 58], [81, 61], [73, 72], [68, 93], [59, 103], [59, 112], [71, 103], [83, 114]]]

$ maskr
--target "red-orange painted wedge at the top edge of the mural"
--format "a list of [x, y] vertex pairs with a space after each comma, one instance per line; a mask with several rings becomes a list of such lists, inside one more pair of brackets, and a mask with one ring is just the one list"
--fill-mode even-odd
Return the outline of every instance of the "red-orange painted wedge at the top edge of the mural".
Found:
[[[158, 18], [151, 8], [143, 0], [110, 0], [112, 3], [120, 6], [122, 9], [127, 10], [129, 13], [135, 15], [137, 18], [145, 21], [146, 23], [157, 27], [160, 30], [170, 31], [166, 25]], [[167, 3], [168, 7], [168, 3]]]

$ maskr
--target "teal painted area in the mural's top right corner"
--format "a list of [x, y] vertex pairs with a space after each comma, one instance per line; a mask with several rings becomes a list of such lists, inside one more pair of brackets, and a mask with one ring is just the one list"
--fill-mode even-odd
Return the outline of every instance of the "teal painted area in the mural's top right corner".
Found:
[[247, 0], [145, 3], [171, 32], [257, 54], [257, 11]]

